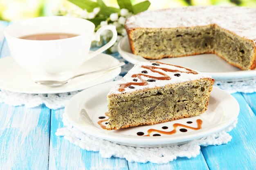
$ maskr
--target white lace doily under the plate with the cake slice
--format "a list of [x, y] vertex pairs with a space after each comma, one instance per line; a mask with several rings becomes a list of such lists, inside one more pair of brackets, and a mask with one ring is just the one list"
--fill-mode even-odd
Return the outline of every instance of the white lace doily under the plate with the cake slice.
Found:
[[[63, 114], [64, 128], [59, 128], [55, 133], [57, 136], [63, 136], [70, 143], [79, 146], [82, 149], [89, 151], [99, 151], [103, 158], [119, 157], [125, 158], [130, 162], [152, 162], [152, 163], [168, 163], [177, 159], [177, 157], [196, 157], [200, 154], [200, 146], [221, 145], [227, 144], [232, 137], [227, 132], [236, 127], [236, 121], [227, 127], [225, 130], [214, 133], [207, 137], [193, 140], [181, 146], [169, 146], [162, 148], [136, 148], [131, 146], [124, 146], [87, 135], [76, 128], [67, 121]], [[136, 153], [136, 154], [134, 154]]]

